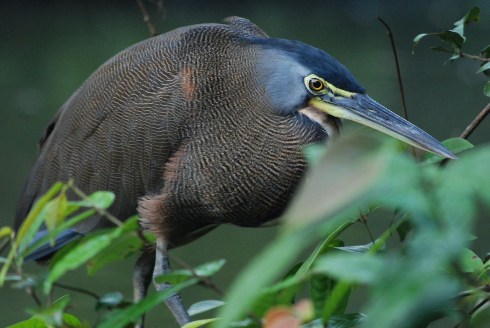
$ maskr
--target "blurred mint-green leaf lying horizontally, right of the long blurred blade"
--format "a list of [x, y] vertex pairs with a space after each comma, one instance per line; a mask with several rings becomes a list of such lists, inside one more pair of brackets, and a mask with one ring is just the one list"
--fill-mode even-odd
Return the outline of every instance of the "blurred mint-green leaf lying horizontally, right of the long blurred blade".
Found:
[[382, 266], [383, 261], [375, 256], [328, 253], [318, 258], [313, 271], [343, 281], [371, 282]]

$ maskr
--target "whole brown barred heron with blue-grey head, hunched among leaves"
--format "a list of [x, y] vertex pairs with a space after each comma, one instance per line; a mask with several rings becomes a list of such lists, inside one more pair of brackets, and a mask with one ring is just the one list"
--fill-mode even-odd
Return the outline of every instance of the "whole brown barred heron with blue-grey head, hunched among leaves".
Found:
[[[69, 179], [86, 193], [114, 192], [109, 211], [121, 220], [140, 213], [163, 248], [222, 223], [261, 226], [281, 214], [305, 172], [302, 147], [338, 134], [342, 118], [455, 158], [369, 98], [322, 50], [269, 38], [243, 18], [224, 23], [148, 39], [94, 72], [39, 141], [16, 227], [54, 182]], [[27, 260], [47, 258], [80, 234], [107, 226], [94, 215]], [[136, 301], [146, 295], [153, 267], [170, 270], [161, 252], [156, 264], [154, 254], [144, 254], [135, 269]], [[189, 321], [178, 295], [167, 304], [180, 325]]]

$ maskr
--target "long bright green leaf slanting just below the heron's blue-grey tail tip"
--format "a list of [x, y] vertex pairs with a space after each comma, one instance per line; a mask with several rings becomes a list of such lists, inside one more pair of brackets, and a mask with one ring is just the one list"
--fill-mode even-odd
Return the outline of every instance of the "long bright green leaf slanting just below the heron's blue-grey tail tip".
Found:
[[44, 282], [44, 292], [51, 290], [51, 285], [67, 271], [76, 269], [90, 258], [96, 256], [100, 251], [109, 246], [112, 240], [117, 238], [123, 231], [123, 227], [118, 227], [107, 234], [87, 236], [71, 249], [63, 258], [60, 258], [49, 273], [48, 279]]

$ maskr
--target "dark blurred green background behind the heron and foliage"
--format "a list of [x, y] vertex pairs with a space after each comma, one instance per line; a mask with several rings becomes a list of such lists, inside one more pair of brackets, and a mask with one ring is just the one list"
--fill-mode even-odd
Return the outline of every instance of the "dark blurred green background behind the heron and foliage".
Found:
[[[154, 15], [156, 6], [145, 3]], [[299, 40], [325, 50], [356, 76], [373, 99], [401, 115], [392, 49], [385, 27], [375, 18], [379, 15], [394, 32], [410, 120], [438, 140], [459, 136], [490, 100], [482, 94], [487, 78], [475, 75], [479, 62], [460, 59], [444, 66], [449, 56], [430, 51], [429, 46], [441, 45], [430, 37], [424, 38], [412, 54], [412, 40], [417, 34], [450, 28], [472, 6], [479, 5], [482, 21], [466, 27], [463, 49], [478, 54], [490, 44], [489, 1], [165, 0], [164, 5], [166, 18], [160, 33], [190, 24], [220, 23], [232, 15], [245, 17], [270, 37]], [[147, 37], [147, 25], [133, 0], [0, 2], [0, 227], [12, 225], [19, 192], [49, 119], [99, 65]], [[487, 119], [469, 141], [488, 142], [489, 131]], [[375, 235], [387, 227], [390, 215], [380, 212], [369, 217]], [[216, 276], [217, 283], [226, 288], [276, 231], [223, 226], [173, 252], [193, 265], [226, 258], [228, 263]], [[474, 233], [480, 238], [472, 246], [480, 257], [490, 251], [489, 231], [488, 215], [482, 213]], [[369, 242], [360, 224], [342, 237], [347, 245]], [[396, 243], [396, 239], [393, 236], [391, 242]], [[61, 282], [99, 295], [120, 290], [131, 299], [134, 260], [109, 265], [92, 279], [86, 278], [84, 270], [77, 270]], [[35, 264], [26, 268], [43, 270]], [[58, 288], [55, 296], [67, 293]], [[94, 323], [94, 300], [70, 294], [77, 306], [70, 312]], [[219, 298], [200, 286], [182, 294], [186, 305]], [[359, 310], [364, 298], [361, 288], [351, 298], [348, 310]], [[24, 308], [29, 306], [35, 304], [23, 291], [8, 286], [0, 289], [0, 328], [27, 319]], [[148, 328], [161, 326], [176, 327], [164, 305], [147, 315]]]

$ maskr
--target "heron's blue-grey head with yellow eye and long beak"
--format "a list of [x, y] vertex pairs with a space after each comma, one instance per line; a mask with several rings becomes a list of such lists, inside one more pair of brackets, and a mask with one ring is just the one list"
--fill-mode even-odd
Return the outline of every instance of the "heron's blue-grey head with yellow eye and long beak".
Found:
[[367, 125], [415, 147], [447, 158], [449, 149], [414, 124], [378, 104], [355, 77], [326, 52], [299, 41], [255, 38], [261, 49], [259, 80], [277, 111], [305, 106]]

